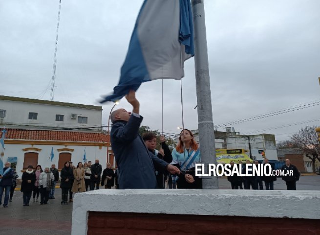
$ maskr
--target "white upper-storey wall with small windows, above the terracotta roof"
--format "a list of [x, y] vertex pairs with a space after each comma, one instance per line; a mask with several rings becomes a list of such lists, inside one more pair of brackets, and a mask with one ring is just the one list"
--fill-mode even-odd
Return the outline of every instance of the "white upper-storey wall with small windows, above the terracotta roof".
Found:
[[[61, 105], [37, 104], [21, 101], [0, 100], [0, 109], [6, 110], [3, 123], [22, 124], [17, 128], [30, 128], [30, 126], [51, 127], [86, 127], [101, 126], [102, 110], [93, 110]], [[38, 113], [37, 120], [30, 120], [29, 112]], [[71, 119], [76, 114], [76, 119]], [[64, 115], [64, 121], [56, 121], [56, 115]], [[87, 117], [87, 124], [78, 123], [78, 117]]]

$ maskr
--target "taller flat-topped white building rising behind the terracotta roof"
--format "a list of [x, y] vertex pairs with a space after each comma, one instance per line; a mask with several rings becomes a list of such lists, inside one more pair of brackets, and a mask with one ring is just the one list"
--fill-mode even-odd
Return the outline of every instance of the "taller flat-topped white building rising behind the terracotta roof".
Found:
[[0, 127], [101, 132], [101, 121], [101, 106], [0, 95]]

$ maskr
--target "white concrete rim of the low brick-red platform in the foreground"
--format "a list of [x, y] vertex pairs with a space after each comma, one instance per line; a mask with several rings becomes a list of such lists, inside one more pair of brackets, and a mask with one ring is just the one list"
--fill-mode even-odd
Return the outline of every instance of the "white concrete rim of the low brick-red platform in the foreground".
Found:
[[85, 235], [88, 211], [320, 219], [320, 191], [100, 189], [74, 196], [72, 235]]

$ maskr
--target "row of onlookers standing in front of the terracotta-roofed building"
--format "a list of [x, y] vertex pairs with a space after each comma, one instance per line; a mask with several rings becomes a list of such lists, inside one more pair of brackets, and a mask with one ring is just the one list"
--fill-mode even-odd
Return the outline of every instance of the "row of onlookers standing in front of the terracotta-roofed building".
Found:
[[[9, 162], [4, 164], [3, 173], [0, 175], [0, 205], [2, 202], [2, 195], [4, 193], [3, 207], [8, 207], [8, 202], [12, 201], [14, 190], [17, 186], [17, 178], [19, 175], [12, 169]], [[102, 177], [101, 177], [102, 174]], [[61, 205], [67, 205], [72, 202], [73, 193], [85, 192], [88, 190], [99, 189], [101, 186], [111, 188], [115, 185], [117, 187], [117, 179], [119, 174], [114, 172], [111, 164], [107, 164], [107, 168], [102, 172], [102, 166], [99, 160], [95, 160], [94, 164], [90, 161], [85, 164], [79, 162], [74, 166], [72, 162], [65, 162], [61, 169], [60, 177], [59, 171], [55, 164], [50, 167], [37, 165], [36, 168], [29, 165], [21, 176], [21, 192], [23, 198], [23, 206], [29, 206], [31, 197], [33, 203], [40, 202], [40, 205], [48, 204], [49, 199], [55, 199], [55, 187], [60, 182], [61, 188]], [[69, 200], [68, 200], [69, 198]]]

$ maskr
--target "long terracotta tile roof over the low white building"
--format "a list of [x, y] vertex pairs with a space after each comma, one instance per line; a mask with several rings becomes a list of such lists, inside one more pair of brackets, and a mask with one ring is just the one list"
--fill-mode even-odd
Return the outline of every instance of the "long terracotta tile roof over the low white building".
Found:
[[[2, 131], [3, 129], [0, 129]], [[102, 133], [6, 129], [5, 140], [37, 140], [37, 141], [79, 141], [79, 142], [109, 142], [110, 138]], [[0, 132], [0, 138], [2, 132]]]

